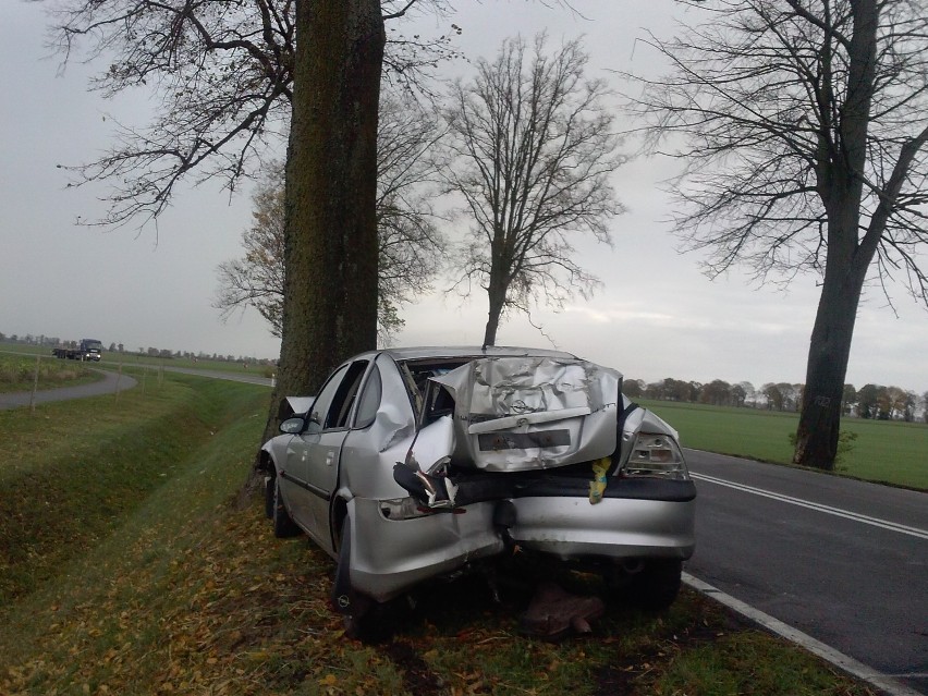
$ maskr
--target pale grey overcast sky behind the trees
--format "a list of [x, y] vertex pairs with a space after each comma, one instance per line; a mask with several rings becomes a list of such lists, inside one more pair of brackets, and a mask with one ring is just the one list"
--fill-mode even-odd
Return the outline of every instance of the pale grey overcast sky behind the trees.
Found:
[[[505, 36], [530, 37], [547, 28], [558, 42], [584, 35], [589, 75], [610, 81], [615, 80], [610, 69], [654, 69], [656, 57], [635, 39], [645, 29], [660, 36], [673, 29], [671, 0], [575, 0], [588, 19], [524, 0], [455, 4], [453, 21], [464, 29], [460, 47], [472, 59], [492, 58]], [[211, 307], [217, 265], [242, 255], [241, 234], [251, 222], [247, 191], [230, 200], [216, 186], [185, 190], [157, 228], [141, 231], [76, 224], [103, 212], [96, 199], [103, 191], [65, 188], [66, 176], [56, 166], [102, 151], [113, 117], [144, 125], [150, 105], [138, 95], [112, 102], [88, 93], [87, 77], [99, 64], [72, 64], [59, 74], [60, 58], [45, 47], [42, 5], [17, 0], [3, 5], [0, 332], [94, 337], [105, 346], [123, 343], [129, 350], [277, 357], [279, 341], [256, 312], [223, 325]], [[436, 28], [434, 19], [420, 22], [424, 30]], [[447, 71], [469, 74], [463, 62]], [[511, 318], [498, 343], [549, 347], [553, 342], [647, 381], [803, 382], [816, 278], [798, 278], [785, 293], [752, 285], [746, 274], [708, 280], [697, 255], [677, 253], [679, 240], [663, 221], [670, 202], [659, 182], [673, 171], [655, 159], [622, 167], [614, 184], [630, 210], [612, 222], [613, 248], [578, 245], [583, 265], [603, 288], [560, 314], [540, 309], [534, 320], [546, 335], [525, 318]], [[898, 318], [878, 291], [865, 298], [847, 381], [921, 394], [928, 391], [928, 313], [904, 289], [893, 294]], [[395, 342], [479, 343], [486, 312], [484, 296], [462, 303], [437, 292], [405, 308], [406, 329]]]

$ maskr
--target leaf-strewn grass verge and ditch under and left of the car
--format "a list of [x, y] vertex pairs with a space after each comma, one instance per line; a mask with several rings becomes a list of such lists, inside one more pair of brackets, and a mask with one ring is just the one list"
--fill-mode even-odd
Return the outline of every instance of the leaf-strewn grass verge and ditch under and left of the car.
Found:
[[[8, 426], [28, 422], [0, 424], [7, 464], [0, 469], [16, 491], [3, 520], [35, 517], [22, 540], [47, 537], [16, 564], [58, 559], [0, 603], [0, 693], [874, 696], [692, 590], [660, 614], [610, 602], [593, 636], [552, 643], [518, 632], [528, 593], [500, 607], [463, 579], [396, 610], [391, 639], [350, 640], [328, 606], [333, 563], [240, 500], [267, 393], [170, 375], [136, 401], [93, 400], [90, 420], [41, 406], [45, 428], [16, 450]], [[83, 502], [60, 509], [49, 481]]]

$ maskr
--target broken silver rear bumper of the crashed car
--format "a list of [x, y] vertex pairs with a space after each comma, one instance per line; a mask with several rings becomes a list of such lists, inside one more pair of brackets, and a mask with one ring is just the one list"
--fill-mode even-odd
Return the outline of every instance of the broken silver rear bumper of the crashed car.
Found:
[[390, 520], [376, 500], [355, 498], [351, 583], [384, 601], [432, 577], [506, 549], [493, 515], [512, 504], [512, 540], [564, 560], [687, 559], [695, 549], [695, 500], [536, 496], [468, 504], [410, 520]]

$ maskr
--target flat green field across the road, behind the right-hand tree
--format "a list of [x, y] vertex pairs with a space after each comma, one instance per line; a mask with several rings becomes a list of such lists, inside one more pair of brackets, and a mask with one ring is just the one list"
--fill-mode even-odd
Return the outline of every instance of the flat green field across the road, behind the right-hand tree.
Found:
[[[680, 431], [684, 447], [790, 464], [798, 414], [638, 400]], [[928, 490], [928, 425], [845, 417], [857, 438], [835, 472], [864, 480]]]

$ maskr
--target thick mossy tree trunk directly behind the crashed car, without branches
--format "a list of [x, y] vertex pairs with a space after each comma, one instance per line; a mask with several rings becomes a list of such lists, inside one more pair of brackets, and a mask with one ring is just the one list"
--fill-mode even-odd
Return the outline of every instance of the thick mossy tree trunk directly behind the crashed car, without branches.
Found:
[[286, 164], [280, 370], [266, 437], [286, 395], [377, 344], [378, 0], [298, 0]]

